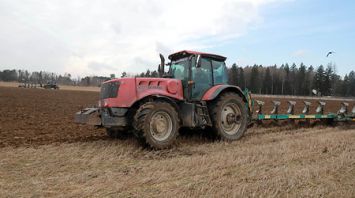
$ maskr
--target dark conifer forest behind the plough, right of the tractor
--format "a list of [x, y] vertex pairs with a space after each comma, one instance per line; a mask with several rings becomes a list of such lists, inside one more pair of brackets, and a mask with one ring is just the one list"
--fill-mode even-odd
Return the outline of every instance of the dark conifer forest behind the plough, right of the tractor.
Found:
[[314, 68], [301, 63], [281, 66], [253, 65], [228, 69], [229, 84], [252, 93], [299, 96], [355, 96], [355, 72], [350, 71], [342, 78], [336, 74], [333, 64]]

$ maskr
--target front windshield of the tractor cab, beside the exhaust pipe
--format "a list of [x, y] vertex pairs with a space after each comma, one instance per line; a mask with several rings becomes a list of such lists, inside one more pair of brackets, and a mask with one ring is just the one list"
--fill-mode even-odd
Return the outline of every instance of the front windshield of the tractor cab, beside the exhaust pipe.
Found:
[[171, 62], [170, 72], [173, 78], [187, 80], [189, 71], [189, 58], [182, 58]]

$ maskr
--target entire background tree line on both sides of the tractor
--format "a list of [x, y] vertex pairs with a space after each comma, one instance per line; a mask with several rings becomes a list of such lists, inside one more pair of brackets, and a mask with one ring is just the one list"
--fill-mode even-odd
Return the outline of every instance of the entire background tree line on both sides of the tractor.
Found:
[[[158, 77], [157, 71], [147, 70], [140, 74], [122, 72], [119, 77]], [[104, 81], [116, 78], [110, 76], [86, 76], [73, 78], [70, 74], [58, 75], [51, 72], [29, 72], [27, 70], [0, 71], [0, 81], [17, 81], [19, 83], [100, 86]], [[311, 96], [313, 90], [323, 96], [355, 96], [355, 72], [345, 76], [336, 73], [335, 65], [320, 65], [316, 68], [303, 63], [282, 64], [280, 66], [253, 65], [228, 67], [229, 84], [242, 89], [248, 88], [252, 93], [271, 95]]]

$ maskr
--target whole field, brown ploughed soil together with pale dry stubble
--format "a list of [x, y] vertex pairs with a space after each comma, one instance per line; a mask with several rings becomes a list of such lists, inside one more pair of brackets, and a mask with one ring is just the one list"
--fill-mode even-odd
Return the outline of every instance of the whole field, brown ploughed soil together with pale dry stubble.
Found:
[[353, 126], [253, 127], [232, 143], [184, 132], [174, 148], [152, 151], [73, 123], [97, 98], [0, 87], [0, 197], [355, 196]]

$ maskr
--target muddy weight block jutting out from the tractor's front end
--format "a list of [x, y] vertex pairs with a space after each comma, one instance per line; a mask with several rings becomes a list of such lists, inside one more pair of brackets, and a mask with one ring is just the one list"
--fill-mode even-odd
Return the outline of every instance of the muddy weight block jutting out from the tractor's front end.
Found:
[[74, 121], [78, 124], [102, 125], [99, 108], [85, 108], [77, 112]]

